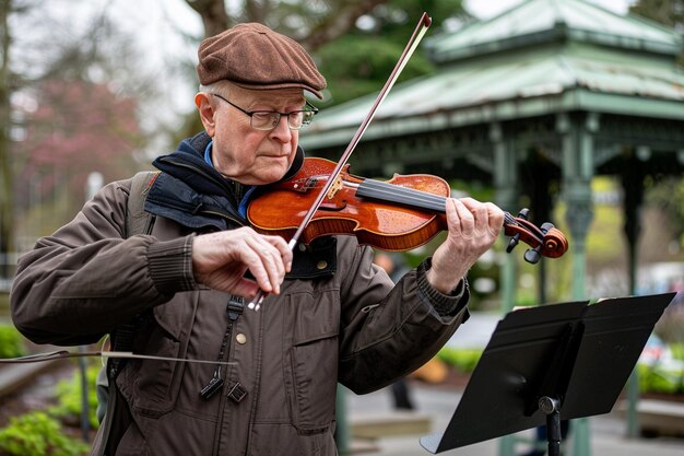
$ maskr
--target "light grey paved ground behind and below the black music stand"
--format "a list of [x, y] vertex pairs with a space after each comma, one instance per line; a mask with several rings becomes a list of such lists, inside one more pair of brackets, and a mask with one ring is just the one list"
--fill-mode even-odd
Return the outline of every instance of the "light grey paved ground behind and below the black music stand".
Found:
[[[452, 347], [484, 347], [490, 339], [499, 317], [496, 315], [473, 315], [471, 320], [456, 332], [448, 342]], [[456, 410], [462, 390], [455, 387], [429, 385], [410, 382], [411, 397], [416, 405], [415, 413], [427, 417], [429, 428], [425, 434], [406, 433], [403, 435], [386, 435], [373, 441], [359, 442], [352, 435], [351, 447], [353, 453], [368, 456], [422, 456], [431, 453], [420, 444], [420, 437], [435, 433], [443, 433]], [[344, 400], [347, 410], [347, 421], [358, 418], [387, 413], [391, 416], [392, 395], [389, 388], [369, 395], [356, 396], [345, 391]], [[683, 405], [684, 407], [684, 405]], [[651, 439], [627, 437], [627, 423], [623, 414], [614, 407], [610, 413], [588, 418], [589, 454], [579, 454], [574, 449], [573, 433], [564, 443], [564, 454], [567, 456], [683, 456], [684, 436], [657, 436]], [[486, 423], [483, 423], [486, 425]], [[515, 434], [515, 453], [521, 455], [530, 449], [533, 430], [526, 430]], [[499, 456], [500, 440], [481, 442], [460, 448], [450, 449], [440, 454], [452, 456]], [[354, 451], [354, 448], [357, 448]]]

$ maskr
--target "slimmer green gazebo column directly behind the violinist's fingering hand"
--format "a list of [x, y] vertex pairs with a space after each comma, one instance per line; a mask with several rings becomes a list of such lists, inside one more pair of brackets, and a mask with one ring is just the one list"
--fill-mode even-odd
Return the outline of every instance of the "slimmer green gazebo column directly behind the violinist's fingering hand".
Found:
[[[496, 190], [496, 204], [508, 211], [518, 202], [518, 164], [516, 151], [506, 141], [502, 125], [490, 125], [490, 140], [494, 147], [494, 188]], [[515, 213], [514, 213], [515, 215]], [[502, 264], [502, 311], [507, 313], [512, 309], [516, 302], [516, 259], [512, 255], [506, 255]]]

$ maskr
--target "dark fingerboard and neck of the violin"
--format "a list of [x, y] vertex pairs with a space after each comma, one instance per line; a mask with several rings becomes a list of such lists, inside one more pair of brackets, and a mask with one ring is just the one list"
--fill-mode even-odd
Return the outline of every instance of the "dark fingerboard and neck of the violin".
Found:
[[[411, 187], [388, 184], [382, 180], [364, 179], [356, 189], [356, 196], [377, 201], [392, 202], [415, 209], [424, 209], [436, 213], [446, 213], [447, 198], [416, 190]], [[515, 218], [504, 212], [504, 225], [517, 225]]]

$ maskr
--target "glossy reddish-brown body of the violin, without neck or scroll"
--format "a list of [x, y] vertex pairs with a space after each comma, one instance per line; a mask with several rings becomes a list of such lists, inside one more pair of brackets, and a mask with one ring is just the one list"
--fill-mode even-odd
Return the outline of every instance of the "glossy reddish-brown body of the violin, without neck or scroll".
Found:
[[[335, 163], [325, 159], [305, 159], [292, 178], [268, 186], [252, 199], [247, 208], [252, 227], [262, 234], [292, 238], [334, 167]], [[424, 245], [446, 229], [443, 213], [362, 198], [357, 186], [365, 179], [346, 171], [340, 174], [339, 180], [315, 212], [302, 242], [308, 244], [320, 236], [351, 234], [359, 244], [403, 252]], [[439, 197], [448, 197], [451, 191], [444, 179], [425, 174], [394, 175], [387, 184]]]

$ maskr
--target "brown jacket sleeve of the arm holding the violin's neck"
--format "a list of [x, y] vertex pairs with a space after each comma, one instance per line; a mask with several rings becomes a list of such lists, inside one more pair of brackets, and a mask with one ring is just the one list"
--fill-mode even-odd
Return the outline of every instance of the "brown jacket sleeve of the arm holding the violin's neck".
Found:
[[[469, 317], [463, 280], [444, 295], [425, 278], [429, 259], [396, 285], [373, 265], [368, 247], [354, 252], [342, 287], [339, 381], [356, 394], [387, 386], [429, 361]], [[344, 254], [343, 254], [344, 255]], [[349, 255], [349, 254], [347, 254]]]

